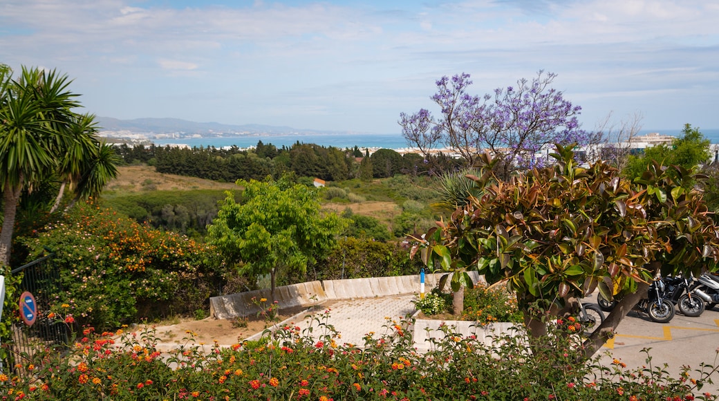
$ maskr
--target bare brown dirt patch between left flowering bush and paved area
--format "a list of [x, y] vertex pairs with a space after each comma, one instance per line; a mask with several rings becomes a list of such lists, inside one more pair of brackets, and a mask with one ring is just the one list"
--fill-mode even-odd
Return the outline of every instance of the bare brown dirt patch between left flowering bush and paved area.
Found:
[[[248, 316], [247, 319], [231, 320], [231, 319], [215, 319], [204, 318], [201, 321], [191, 318], [180, 318], [179, 322], [160, 322], [156, 324], [138, 325], [133, 331], [141, 332], [145, 328], [154, 328], [155, 336], [161, 343], [169, 344], [213, 344], [217, 341], [221, 345], [239, 344], [245, 338], [261, 333], [275, 323], [285, 321], [286, 319], [306, 310], [305, 308], [292, 308], [280, 310], [280, 315], [275, 322], [267, 322], [263, 318], [257, 318], [255, 315]], [[301, 315], [298, 320], [303, 320]], [[239, 325], [238, 323], [242, 323]]]

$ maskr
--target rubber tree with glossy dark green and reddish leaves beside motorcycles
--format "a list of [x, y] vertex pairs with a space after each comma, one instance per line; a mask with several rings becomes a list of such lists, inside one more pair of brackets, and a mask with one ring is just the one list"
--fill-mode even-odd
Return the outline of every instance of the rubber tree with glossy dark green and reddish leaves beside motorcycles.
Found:
[[612, 299], [620, 282], [623, 298], [585, 342], [588, 356], [655, 275], [697, 275], [715, 265], [719, 228], [702, 194], [684, 186], [695, 178], [691, 170], [654, 163], [632, 183], [603, 161], [579, 167], [572, 147], [557, 145], [555, 165], [510, 180], [468, 176], [482, 187], [480, 198], [470, 197], [413, 251], [433, 269], [506, 280], [534, 336], [546, 333], [542, 316], [572, 313], [574, 299], [595, 289]]

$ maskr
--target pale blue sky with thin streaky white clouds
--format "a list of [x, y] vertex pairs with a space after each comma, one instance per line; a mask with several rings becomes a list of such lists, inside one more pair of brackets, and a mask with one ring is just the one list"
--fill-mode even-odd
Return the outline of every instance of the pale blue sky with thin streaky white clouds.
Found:
[[0, 63], [118, 119], [391, 134], [444, 75], [482, 95], [544, 70], [585, 129], [715, 129], [717, 22], [717, 0], [1, 0]]

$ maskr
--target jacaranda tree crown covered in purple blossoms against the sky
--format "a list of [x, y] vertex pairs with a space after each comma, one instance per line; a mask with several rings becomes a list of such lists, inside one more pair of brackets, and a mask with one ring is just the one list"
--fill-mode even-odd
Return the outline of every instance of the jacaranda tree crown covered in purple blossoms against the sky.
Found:
[[518, 80], [516, 87], [476, 96], [467, 92], [469, 74], [444, 76], [436, 81], [437, 93], [431, 97], [441, 116], [435, 119], [427, 109], [402, 113], [402, 134], [428, 162], [433, 160], [431, 150], [443, 146], [459, 154], [466, 167], [475, 167], [477, 157], [489, 149], [498, 160], [500, 178], [507, 179], [516, 167], [541, 165], [546, 154], [540, 157], [540, 150], [551, 144], [589, 141], [577, 120], [581, 108], [550, 88], [556, 77], [539, 71], [531, 81]]

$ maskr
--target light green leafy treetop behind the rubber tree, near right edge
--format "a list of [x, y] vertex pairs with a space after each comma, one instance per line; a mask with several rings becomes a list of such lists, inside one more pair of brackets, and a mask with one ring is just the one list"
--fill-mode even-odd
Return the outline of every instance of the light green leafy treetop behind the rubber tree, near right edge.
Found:
[[[672, 144], [659, 144], [648, 147], [644, 155], [630, 156], [623, 175], [628, 178], [641, 178], [652, 162], [659, 162], [664, 166], [679, 165], [690, 170], [697, 165], [703, 165], [709, 160], [709, 139], [706, 139], [698, 128], [685, 124], [682, 137], [672, 141]], [[692, 185], [693, 182], [687, 182]]]

